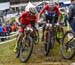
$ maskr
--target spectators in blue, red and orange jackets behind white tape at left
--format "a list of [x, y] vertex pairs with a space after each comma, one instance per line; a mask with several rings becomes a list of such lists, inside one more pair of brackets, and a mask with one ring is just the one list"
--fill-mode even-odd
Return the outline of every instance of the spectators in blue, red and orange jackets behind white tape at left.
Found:
[[[0, 37], [5, 37], [9, 36], [11, 32], [16, 31], [16, 23], [12, 22], [6, 22], [6, 23], [1, 23], [0, 22]], [[1, 41], [5, 41], [6, 38], [0, 38]]]

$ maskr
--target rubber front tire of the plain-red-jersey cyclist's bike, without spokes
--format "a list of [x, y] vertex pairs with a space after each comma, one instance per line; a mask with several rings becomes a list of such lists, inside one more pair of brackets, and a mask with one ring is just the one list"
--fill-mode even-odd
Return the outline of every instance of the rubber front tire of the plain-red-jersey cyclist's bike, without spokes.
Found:
[[[29, 40], [30, 48], [29, 48], [29, 53], [28, 53], [28, 55], [26, 56], [26, 58], [23, 58], [23, 56], [22, 56], [22, 52], [24, 51], [24, 50], [23, 50], [23, 47], [22, 47], [22, 44], [21, 44], [21, 46], [20, 46], [20, 56], [19, 56], [19, 59], [20, 59], [20, 61], [21, 61], [22, 63], [26, 63], [26, 62], [29, 60], [29, 58], [31, 57], [31, 54], [32, 54], [32, 50], [33, 50], [32, 37], [28, 36], [28, 37], [27, 37], [27, 40]], [[25, 41], [25, 42], [26, 42], [26, 41]]]

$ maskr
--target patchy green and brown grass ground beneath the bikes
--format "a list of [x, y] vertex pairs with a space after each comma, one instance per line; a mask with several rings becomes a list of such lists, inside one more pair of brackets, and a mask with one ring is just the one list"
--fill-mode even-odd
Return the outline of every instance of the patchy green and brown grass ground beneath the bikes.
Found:
[[40, 41], [38, 45], [34, 45], [29, 61], [27, 63], [21, 63], [13, 51], [15, 43], [16, 40], [0, 45], [0, 65], [70, 65], [75, 60], [74, 58], [72, 60], [63, 59], [57, 42], [50, 51], [49, 56], [44, 56], [42, 52], [43, 43]]

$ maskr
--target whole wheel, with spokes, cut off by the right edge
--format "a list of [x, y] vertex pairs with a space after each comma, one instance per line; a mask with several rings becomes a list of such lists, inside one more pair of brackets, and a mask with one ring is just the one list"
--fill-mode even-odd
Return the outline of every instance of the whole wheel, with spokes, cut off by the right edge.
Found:
[[75, 54], [75, 34], [67, 31], [61, 41], [60, 50], [64, 59], [72, 59]]

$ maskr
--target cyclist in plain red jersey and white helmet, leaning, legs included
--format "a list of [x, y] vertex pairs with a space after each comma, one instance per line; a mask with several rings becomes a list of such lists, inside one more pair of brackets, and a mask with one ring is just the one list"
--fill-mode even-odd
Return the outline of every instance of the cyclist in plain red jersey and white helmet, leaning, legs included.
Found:
[[[17, 38], [17, 40], [19, 40], [19, 37], [23, 37], [23, 32], [24, 32], [24, 27], [31, 25], [31, 27], [36, 28], [36, 24], [37, 24], [37, 11], [35, 8], [30, 7], [29, 11], [25, 11], [23, 12], [20, 17], [18, 18], [19, 22], [17, 22], [19, 24], [19, 36]], [[15, 46], [14, 52], [16, 52], [16, 48], [17, 48], [17, 44]]]

